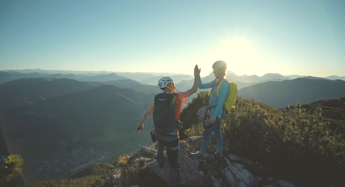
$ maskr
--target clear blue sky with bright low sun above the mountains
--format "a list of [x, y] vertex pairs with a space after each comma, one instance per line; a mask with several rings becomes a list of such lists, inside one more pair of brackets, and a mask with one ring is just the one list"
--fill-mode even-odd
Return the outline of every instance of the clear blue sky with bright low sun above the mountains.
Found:
[[0, 1], [0, 70], [345, 76], [345, 1]]

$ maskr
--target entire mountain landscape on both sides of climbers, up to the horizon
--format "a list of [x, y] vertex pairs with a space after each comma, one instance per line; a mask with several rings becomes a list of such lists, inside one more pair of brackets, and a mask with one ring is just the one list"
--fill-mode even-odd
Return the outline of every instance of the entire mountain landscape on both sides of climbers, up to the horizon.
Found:
[[[0, 71], [0, 140], [6, 141], [1, 142], [1, 150], [21, 154], [24, 159], [63, 152], [65, 155], [59, 159], [69, 159], [84, 148], [88, 152], [83, 154], [90, 154], [91, 148], [94, 152], [110, 147], [119, 150], [124, 145], [149, 141], [149, 133], [137, 135], [136, 127], [154, 95], [161, 90], [141, 81], [153, 82], [162, 75], [84, 73], [89, 74]], [[177, 90], [185, 91], [193, 85], [192, 77], [176, 76], [186, 78], [177, 83]], [[201, 79], [209, 82], [214, 75], [210, 73]], [[344, 80], [315, 77], [284, 80], [284, 76], [274, 73], [258, 77], [237, 76], [233, 72], [228, 72], [228, 80], [237, 84], [238, 96], [254, 98], [275, 108], [345, 96]], [[150, 128], [153, 128], [152, 117], [145, 123], [147, 132]], [[71, 164], [68, 169], [77, 166]]]

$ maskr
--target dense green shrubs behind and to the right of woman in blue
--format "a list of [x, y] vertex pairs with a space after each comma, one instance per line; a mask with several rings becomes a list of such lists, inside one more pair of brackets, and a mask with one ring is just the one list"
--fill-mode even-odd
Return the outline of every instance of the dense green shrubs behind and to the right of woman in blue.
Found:
[[[181, 139], [203, 134], [202, 128], [194, 128], [197, 111], [207, 105], [208, 98], [207, 92], [200, 92], [183, 110]], [[222, 121], [223, 139], [229, 145], [229, 152], [223, 154], [265, 163], [272, 169], [271, 177], [298, 186], [344, 186], [344, 102], [345, 98], [297, 103], [291, 114], [289, 106], [281, 112], [263, 102], [238, 97], [235, 108]]]

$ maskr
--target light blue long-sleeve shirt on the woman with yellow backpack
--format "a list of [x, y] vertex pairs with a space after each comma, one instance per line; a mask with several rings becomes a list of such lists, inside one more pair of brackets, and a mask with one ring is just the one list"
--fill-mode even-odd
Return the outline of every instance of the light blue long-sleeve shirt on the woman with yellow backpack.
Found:
[[[212, 84], [214, 81], [211, 81], [209, 83], [205, 83], [203, 84], [203, 82], [201, 81], [201, 78], [199, 76], [199, 89], [207, 89], [207, 88], [211, 88]], [[219, 91], [219, 96], [217, 94], [217, 86], [213, 86], [212, 90], [211, 90], [211, 97], [210, 97], [210, 101], [208, 102], [208, 106], [216, 106], [215, 111], [213, 112], [213, 114], [211, 114], [212, 117], [217, 118], [217, 116], [220, 115], [221, 110], [223, 109], [224, 106], [224, 102], [225, 102], [225, 98], [226, 95], [228, 94], [229, 91], [229, 83], [228, 81], [223, 81], [220, 85], [220, 91]]]

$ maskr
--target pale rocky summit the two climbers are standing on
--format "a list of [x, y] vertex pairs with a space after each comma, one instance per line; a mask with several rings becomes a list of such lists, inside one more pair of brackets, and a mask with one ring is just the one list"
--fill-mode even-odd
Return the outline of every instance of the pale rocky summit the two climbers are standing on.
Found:
[[[179, 176], [180, 186], [210, 186], [210, 187], [295, 187], [294, 184], [274, 178], [278, 176], [270, 172], [263, 164], [254, 162], [247, 158], [229, 153], [228, 146], [224, 145], [224, 158], [218, 160], [213, 153], [217, 150], [215, 139], [211, 139], [211, 144], [206, 152], [206, 157], [202, 160], [193, 159], [191, 152], [199, 150], [202, 137], [189, 137], [187, 140], [180, 140], [179, 148]], [[137, 163], [148, 168], [150, 175], [155, 175], [159, 181], [151, 181], [151, 185], [142, 185], [137, 181], [131, 187], [166, 186], [169, 174], [169, 163], [165, 154], [165, 166], [159, 168], [157, 163], [157, 150], [143, 146], [131, 157], [127, 156], [129, 168], [138, 167]], [[121, 171], [119, 174], [118, 171]], [[127, 171], [125, 171], [127, 170]], [[111, 176], [104, 179], [99, 187], [122, 187], [128, 186], [131, 182], [126, 177], [128, 169], [119, 164], [113, 169]], [[149, 174], [148, 174], [149, 175]], [[159, 183], [159, 184], [157, 184]], [[133, 184], [133, 183], [131, 183]], [[147, 183], [146, 183], [147, 184]], [[150, 184], [150, 183], [149, 183]]]

